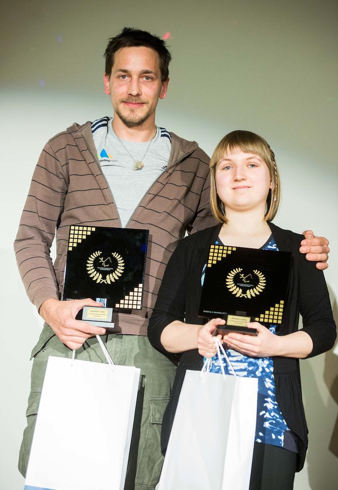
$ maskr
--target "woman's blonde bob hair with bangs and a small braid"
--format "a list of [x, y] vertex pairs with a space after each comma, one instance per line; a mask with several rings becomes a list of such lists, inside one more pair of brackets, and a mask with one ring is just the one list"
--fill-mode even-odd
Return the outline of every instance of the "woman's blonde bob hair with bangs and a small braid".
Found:
[[274, 153], [268, 143], [263, 138], [250, 131], [237, 130], [229, 133], [219, 142], [212, 154], [210, 161], [210, 205], [213, 215], [219, 223], [227, 223], [228, 221], [224, 204], [217, 194], [215, 173], [217, 164], [224, 158], [224, 155], [233, 151], [253, 153], [266, 163], [270, 172], [272, 190], [269, 190], [266, 198], [264, 219], [265, 221], [271, 221], [277, 213], [280, 201], [280, 179], [278, 168]]

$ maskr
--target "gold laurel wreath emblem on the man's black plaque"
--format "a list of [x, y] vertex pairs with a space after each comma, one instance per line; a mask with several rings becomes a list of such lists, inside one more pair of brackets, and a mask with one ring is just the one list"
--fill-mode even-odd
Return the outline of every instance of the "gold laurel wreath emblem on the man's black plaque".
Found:
[[96, 283], [111, 284], [118, 281], [124, 268], [124, 260], [117, 252], [103, 257], [102, 252], [97, 250], [89, 256], [86, 263], [87, 273]]

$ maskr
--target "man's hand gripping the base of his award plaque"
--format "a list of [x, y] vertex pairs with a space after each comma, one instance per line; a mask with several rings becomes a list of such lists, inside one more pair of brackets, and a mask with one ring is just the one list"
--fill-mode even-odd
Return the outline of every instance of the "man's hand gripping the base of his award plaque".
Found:
[[42, 303], [39, 313], [61, 342], [74, 350], [79, 349], [87, 338], [105, 333], [105, 328], [75, 320], [84, 306], [102, 306], [102, 304], [90, 298], [70, 301], [49, 298]]

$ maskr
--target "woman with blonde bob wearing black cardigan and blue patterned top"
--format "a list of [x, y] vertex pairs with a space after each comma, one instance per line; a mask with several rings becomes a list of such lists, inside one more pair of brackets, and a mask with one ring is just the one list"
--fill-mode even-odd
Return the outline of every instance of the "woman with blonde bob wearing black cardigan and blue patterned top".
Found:
[[148, 329], [155, 348], [167, 356], [181, 353], [163, 419], [162, 449], [165, 453], [185, 370], [200, 369], [203, 356], [215, 355], [213, 334], [225, 324], [213, 319], [202, 325], [198, 318], [209, 245], [289, 251], [292, 265], [283, 325], [277, 329], [249, 323], [257, 336], [229, 333], [222, 341], [235, 370], [258, 377], [250, 489], [292, 489], [308, 443], [298, 359], [329, 350], [336, 338], [327, 286], [323, 273], [299, 253], [302, 236], [271, 223], [278, 209], [280, 180], [265, 140], [248, 131], [230, 133], [216, 147], [210, 170], [211, 208], [219, 225], [179, 242]]

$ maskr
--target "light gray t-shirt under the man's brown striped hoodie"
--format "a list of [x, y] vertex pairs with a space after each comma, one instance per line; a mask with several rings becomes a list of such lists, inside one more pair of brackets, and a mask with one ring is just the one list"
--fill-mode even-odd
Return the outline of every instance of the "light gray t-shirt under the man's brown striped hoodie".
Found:
[[[147, 190], [166, 170], [171, 150], [171, 138], [165, 128], [158, 128], [151, 142], [137, 143], [117, 138], [112, 129], [112, 118], [94, 121], [91, 131], [97, 157], [114, 197], [122, 227]], [[128, 153], [129, 151], [129, 153]], [[144, 164], [134, 170], [134, 161]]]

